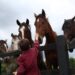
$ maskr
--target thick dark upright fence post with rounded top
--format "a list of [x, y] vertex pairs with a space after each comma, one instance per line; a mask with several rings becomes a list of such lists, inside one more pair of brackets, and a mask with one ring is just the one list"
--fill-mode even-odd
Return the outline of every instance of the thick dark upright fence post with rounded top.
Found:
[[66, 50], [66, 42], [62, 35], [56, 38], [56, 47], [58, 54], [59, 75], [70, 75], [68, 51]]

